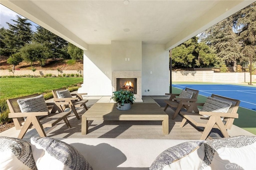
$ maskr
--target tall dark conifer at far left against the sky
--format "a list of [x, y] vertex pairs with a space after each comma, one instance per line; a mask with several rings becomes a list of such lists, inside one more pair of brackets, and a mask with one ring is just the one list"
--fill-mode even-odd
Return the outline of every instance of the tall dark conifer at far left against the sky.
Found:
[[17, 53], [21, 47], [32, 40], [31, 23], [26, 18], [16, 17], [16, 20], [12, 20], [16, 24], [6, 22], [9, 28], [6, 30], [2, 40], [5, 44], [6, 52], [10, 54]]

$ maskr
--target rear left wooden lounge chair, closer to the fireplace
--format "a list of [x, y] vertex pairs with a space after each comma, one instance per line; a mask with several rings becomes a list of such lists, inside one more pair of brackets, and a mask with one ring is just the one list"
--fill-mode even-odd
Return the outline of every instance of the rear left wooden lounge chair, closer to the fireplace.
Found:
[[83, 99], [82, 95], [87, 95], [87, 93], [71, 93], [72, 98], [58, 98], [57, 95], [57, 91], [63, 91], [66, 90], [66, 88], [61, 88], [61, 89], [54, 89], [52, 90], [52, 95], [54, 97], [54, 102], [67, 102], [68, 105], [62, 105], [62, 111], [64, 111], [67, 107], [70, 107], [71, 110], [73, 111], [73, 113], [76, 115], [76, 118], [79, 120], [80, 117], [76, 111], [76, 108], [82, 107], [84, 106], [84, 108], [86, 109], [86, 111], [88, 110], [88, 108], [86, 107], [86, 104], [88, 102], [88, 100]]

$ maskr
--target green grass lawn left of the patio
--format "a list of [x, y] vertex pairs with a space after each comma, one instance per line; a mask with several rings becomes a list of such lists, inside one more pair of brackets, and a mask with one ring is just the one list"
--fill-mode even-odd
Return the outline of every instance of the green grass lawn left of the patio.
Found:
[[0, 78], [0, 98], [43, 93], [81, 83], [83, 77], [14, 77]]

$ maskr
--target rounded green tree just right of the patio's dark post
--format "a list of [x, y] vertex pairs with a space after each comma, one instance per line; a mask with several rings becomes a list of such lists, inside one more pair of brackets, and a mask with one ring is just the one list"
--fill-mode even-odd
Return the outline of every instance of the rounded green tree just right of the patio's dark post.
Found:
[[214, 67], [216, 55], [206, 44], [198, 43], [198, 38], [178, 45], [172, 49], [172, 66], [178, 68]]

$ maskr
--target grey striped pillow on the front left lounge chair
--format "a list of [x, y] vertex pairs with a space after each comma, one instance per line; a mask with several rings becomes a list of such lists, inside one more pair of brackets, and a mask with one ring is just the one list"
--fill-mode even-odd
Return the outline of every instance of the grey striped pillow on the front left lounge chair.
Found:
[[[17, 102], [21, 112], [48, 112], [48, 108], [43, 95], [27, 99], [18, 99]], [[41, 117], [44, 116], [39, 116], [38, 118]], [[24, 117], [24, 119], [26, 119], [26, 117]]]

